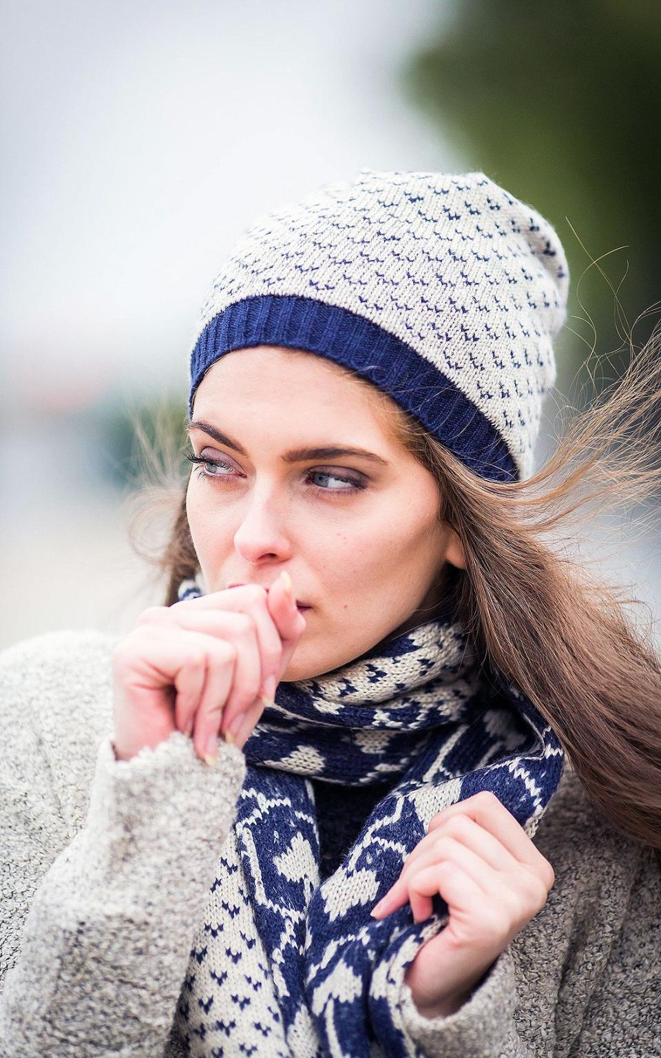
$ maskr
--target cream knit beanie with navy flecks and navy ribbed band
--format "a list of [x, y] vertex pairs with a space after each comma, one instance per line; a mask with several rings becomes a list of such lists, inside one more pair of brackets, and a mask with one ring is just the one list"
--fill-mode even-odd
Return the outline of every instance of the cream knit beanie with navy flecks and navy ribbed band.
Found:
[[196, 327], [188, 411], [223, 353], [304, 349], [389, 394], [476, 474], [522, 479], [568, 286], [554, 229], [483, 172], [363, 168], [244, 231]]

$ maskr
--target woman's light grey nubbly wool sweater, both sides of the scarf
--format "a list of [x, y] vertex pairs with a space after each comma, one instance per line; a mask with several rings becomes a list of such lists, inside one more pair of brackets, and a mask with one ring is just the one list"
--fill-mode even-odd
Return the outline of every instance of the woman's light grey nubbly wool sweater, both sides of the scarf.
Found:
[[[209, 768], [176, 731], [116, 761], [117, 638], [50, 633], [0, 653], [2, 1058], [222, 1053], [185, 1042], [181, 1010], [203, 1002], [195, 970], [245, 759], [221, 744]], [[428, 1020], [393, 984], [410, 1054], [661, 1056], [658, 853], [595, 817], [570, 767], [534, 841], [555, 884], [470, 1000]], [[241, 1055], [270, 1053], [255, 1047]]]

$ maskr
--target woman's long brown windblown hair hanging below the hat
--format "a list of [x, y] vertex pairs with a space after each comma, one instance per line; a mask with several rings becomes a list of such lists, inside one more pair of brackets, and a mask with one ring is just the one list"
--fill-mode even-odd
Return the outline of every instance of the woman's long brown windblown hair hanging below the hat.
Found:
[[[651, 630], [643, 633], [624, 609], [637, 600], [590, 576], [567, 546], [581, 542], [576, 521], [580, 528], [623, 499], [648, 500], [661, 485], [659, 324], [638, 352], [629, 342], [634, 355], [619, 382], [564, 423], [534, 476], [507, 484], [475, 475], [386, 394], [335, 366], [369, 388], [384, 422], [438, 484], [439, 517], [457, 532], [466, 560], [465, 569], [452, 569], [456, 613], [478, 657], [552, 726], [595, 809], [626, 837], [661, 849], [661, 659]], [[131, 543], [167, 579], [164, 605], [171, 605], [181, 580], [198, 569], [183, 428], [172, 441], [159, 426], [151, 443], [134, 426], [150, 480]], [[154, 552], [135, 531], [157, 510], [169, 511], [171, 523]], [[558, 535], [567, 526], [572, 531]]]

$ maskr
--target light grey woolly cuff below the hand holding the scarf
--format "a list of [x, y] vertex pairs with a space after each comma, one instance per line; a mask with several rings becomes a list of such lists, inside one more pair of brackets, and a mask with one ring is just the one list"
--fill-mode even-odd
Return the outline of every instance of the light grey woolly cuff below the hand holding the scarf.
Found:
[[498, 956], [463, 1006], [446, 1018], [425, 1018], [404, 980], [400, 1010], [407, 1034], [428, 1058], [493, 1058], [506, 1054], [514, 1030], [516, 981], [510, 950]]

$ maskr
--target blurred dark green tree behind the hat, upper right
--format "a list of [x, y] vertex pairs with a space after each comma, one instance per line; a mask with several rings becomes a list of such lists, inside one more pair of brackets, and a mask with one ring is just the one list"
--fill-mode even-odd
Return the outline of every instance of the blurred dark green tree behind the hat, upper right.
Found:
[[[400, 76], [466, 167], [534, 205], [563, 240], [571, 272], [567, 328], [583, 341], [564, 332], [558, 386], [567, 388], [594, 343], [598, 355], [613, 352], [611, 377], [621, 373], [629, 352], [621, 348], [613, 291], [589, 266], [607, 255], [599, 263], [612, 287], [624, 280], [619, 298], [628, 326], [659, 300], [661, 4], [456, 0], [438, 36]], [[636, 325], [637, 345], [653, 323]]]

